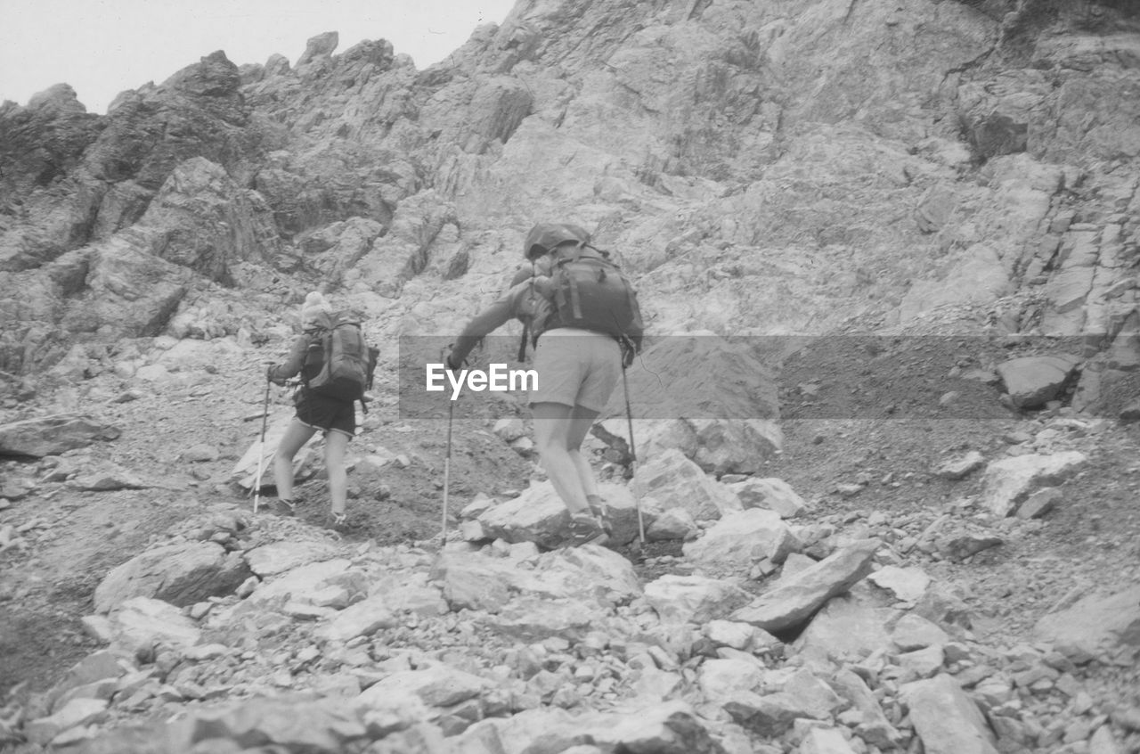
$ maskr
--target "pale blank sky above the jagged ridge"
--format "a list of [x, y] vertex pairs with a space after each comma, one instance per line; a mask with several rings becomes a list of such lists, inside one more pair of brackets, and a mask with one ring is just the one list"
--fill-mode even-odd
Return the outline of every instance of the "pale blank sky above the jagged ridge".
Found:
[[295, 63], [310, 37], [340, 33], [334, 54], [386, 39], [417, 68], [447, 57], [514, 0], [0, 0], [0, 100], [21, 105], [70, 83], [88, 112], [125, 89], [162, 83], [225, 50], [242, 65], [279, 52]]

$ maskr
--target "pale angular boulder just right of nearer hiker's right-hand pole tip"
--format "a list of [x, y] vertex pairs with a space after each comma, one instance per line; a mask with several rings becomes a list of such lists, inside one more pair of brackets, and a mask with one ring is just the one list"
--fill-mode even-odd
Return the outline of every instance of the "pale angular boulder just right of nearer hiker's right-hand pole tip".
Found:
[[699, 465], [674, 449], [638, 467], [629, 487], [637, 497], [652, 497], [662, 510], [684, 509], [698, 521], [716, 520], [725, 512], [743, 509], [726, 485], [707, 477]]

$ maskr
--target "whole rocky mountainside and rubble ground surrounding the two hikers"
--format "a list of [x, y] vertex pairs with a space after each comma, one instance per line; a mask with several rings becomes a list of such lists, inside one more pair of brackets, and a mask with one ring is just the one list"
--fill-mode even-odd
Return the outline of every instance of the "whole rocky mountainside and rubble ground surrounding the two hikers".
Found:
[[[1134, 3], [521, 0], [426, 71], [336, 42], [0, 106], [5, 743], [1140, 751]], [[624, 422], [592, 440], [644, 562], [534, 545], [513, 398], [461, 406], [423, 542], [443, 424], [401, 350], [538, 220], [637, 282], [636, 398], [750, 420], [646, 413], [629, 481]], [[233, 473], [312, 289], [385, 346], [342, 540], [319, 479], [291, 522]]]

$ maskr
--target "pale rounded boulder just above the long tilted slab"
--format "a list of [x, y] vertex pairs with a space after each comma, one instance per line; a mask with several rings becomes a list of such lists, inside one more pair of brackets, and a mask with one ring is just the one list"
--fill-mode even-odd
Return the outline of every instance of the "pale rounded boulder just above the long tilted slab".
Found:
[[695, 542], [685, 543], [684, 553], [698, 566], [747, 569], [765, 558], [783, 562], [799, 546], [779, 513], [754, 508], [723, 516]]

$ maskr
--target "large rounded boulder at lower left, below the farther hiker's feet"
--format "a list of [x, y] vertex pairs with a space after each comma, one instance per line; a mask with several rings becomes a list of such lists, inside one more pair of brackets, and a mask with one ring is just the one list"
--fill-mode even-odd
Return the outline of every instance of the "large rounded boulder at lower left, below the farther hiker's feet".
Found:
[[109, 613], [132, 597], [187, 607], [229, 594], [250, 576], [237, 553], [214, 542], [185, 542], [147, 550], [116, 566], [95, 589], [95, 609]]

